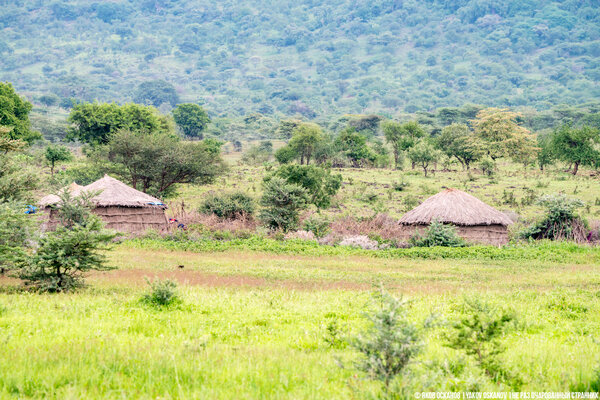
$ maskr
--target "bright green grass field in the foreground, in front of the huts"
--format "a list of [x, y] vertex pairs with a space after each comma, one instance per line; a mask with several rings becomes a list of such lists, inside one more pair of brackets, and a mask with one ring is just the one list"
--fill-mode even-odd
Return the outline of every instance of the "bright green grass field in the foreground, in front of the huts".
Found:
[[[412, 300], [415, 321], [432, 313], [439, 321], [405, 385], [509, 389], [443, 345], [465, 297], [515, 311], [502, 362], [519, 374], [521, 390], [584, 390], [597, 379], [596, 257], [430, 260], [167, 247], [118, 245], [109, 256], [117, 269], [91, 274], [89, 286], [71, 294], [22, 292], [0, 279], [0, 397], [368, 398], [378, 385], [353, 368], [356, 353], [325, 337], [332, 324], [340, 337], [361, 331], [380, 283]], [[182, 302], [166, 309], [140, 302], [145, 278], [155, 277], [179, 282]]]

